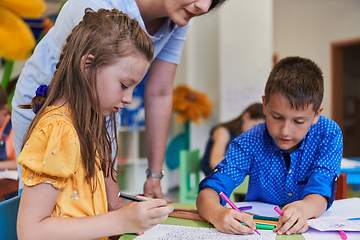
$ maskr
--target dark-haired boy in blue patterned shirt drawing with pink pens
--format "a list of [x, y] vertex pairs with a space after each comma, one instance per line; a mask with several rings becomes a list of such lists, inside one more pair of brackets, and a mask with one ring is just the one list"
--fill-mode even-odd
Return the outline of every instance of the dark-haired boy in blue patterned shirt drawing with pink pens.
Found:
[[262, 97], [266, 122], [234, 139], [200, 183], [196, 205], [204, 219], [221, 232], [253, 233], [252, 217], [224, 208], [219, 197], [230, 196], [246, 175], [246, 201], [284, 206], [274, 229], [279, 235], [305, 232], [307, 219], [331, 206], [343, 142], [339, 126], [320, 116], [323, 92], [322, 72], [311, 60], [288, 57], [274, 66]]

